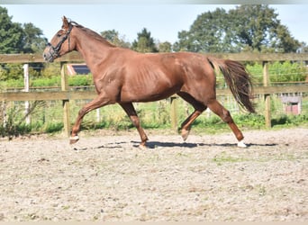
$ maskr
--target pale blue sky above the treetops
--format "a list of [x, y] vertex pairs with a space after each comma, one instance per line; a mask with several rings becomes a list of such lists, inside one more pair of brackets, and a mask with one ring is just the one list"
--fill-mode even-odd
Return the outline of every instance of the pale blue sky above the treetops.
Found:
[[[50, 40], [65, 15], [93, 31], [115, 30], [132, 42], [143, 28], [154, 40], [177, 41], [178, 31], [189, 30], [199, 14], [235, 4], [1, 4], [16, 23], [33, 23]], [[308, 4], [270, 4], [296, 40], [308, 44]]]

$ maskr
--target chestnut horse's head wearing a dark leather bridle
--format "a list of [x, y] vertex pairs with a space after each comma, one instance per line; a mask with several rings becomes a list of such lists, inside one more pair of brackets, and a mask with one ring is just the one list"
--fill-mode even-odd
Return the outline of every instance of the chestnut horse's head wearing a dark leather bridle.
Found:
[[46, 61], [52, 62], [55, 58], [65, 55], [76, 47], [75, 41], [70, 40], [69, 37], [74, 27], [73, 24], [68, 23], [68, 19], [65, 16], [63, 16], [62, 20], [62, 29], [53, 36], [50, 43], [44, 49], [43, 58]]

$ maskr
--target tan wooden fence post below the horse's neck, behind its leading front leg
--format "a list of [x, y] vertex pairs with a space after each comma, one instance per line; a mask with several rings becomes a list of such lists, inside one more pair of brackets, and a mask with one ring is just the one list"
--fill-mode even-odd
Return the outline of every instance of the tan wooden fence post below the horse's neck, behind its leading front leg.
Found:
[[[61, 62], [61, 91], [68, 91], [68, 76], [65, 73], [65, 64]], [[62, 100], [63, 105], [63, 125], [64, 134], [70, 135], [70, 121], [69, 121], [69, 99]]]

